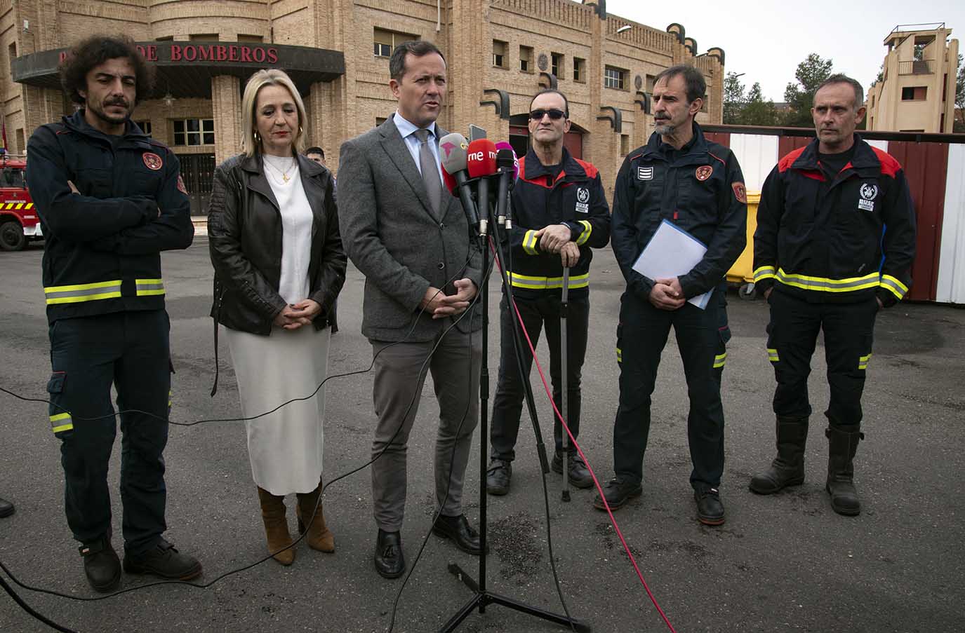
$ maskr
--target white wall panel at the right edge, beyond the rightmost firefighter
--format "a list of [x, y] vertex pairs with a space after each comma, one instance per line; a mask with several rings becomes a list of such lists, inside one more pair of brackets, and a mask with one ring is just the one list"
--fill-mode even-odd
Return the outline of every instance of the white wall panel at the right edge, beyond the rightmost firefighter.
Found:
[[949, 145], [935, 301], [965, 303], [965, 145]]

